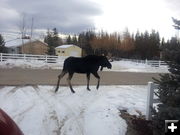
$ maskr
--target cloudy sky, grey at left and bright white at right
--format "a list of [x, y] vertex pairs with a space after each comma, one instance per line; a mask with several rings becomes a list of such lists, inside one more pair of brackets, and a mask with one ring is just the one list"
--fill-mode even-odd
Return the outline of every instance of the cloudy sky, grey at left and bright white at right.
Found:
[[27, 33], [43, 36], [56, 27], [61, 34], [88, 29], [131, 33], [152, 29], [169, 39], [177, 34], [171, 17], [180, 19], [179, 0], [0, 0], [0, 34], [18, 37], [24, 18]]

